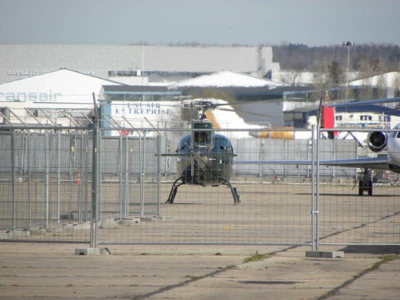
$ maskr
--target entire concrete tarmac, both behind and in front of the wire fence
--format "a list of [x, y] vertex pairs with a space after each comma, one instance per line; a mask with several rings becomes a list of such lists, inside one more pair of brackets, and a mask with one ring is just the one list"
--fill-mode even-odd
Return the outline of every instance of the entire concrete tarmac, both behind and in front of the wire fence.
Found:
[[[169, 187], [162, 185], [163, 199]], [[166, 220], [115, 225], [118, 192], [110, 185], [103, 190], [98, 238], [110, 243], [112, 255], [75, 256], [75, 248], [88, 244], [70, 242], [89, 239], [87, 222], [62, 220], [71, 226], [56, 227], [52, 216], [53, 231], [27, 237], [21, 235], [26, 231], [15, 231], [11, 240], [0, 242], [0, 298], [400, 299], [400, 259], [371, 268], [383, 255], [400, 252], [399, 186], [376, 185], [373, 196], [359, 197], [352, 184], [321, 185], [319, 236], [331, 245], [320, 250], [344, 251], [344, 258], [334, 259], [305, 257], [309, 184], [244, 183], [238, 189], [242, 202], [233, 205], [226, 188], [182, 187], [175, 204], [161, 204]], [[17, 225], [23, 228], [26, 190], [18, 191], [23, 197], [16, 203]], [[0, 204], [0, 214], [11, 211], [10, 201]], [[67, 208], [67, 199], [61, 204]], [[40, 205], [32, 206], [37, 227], [44, 215]], [[10, 216], [0, 216], [1, 226], [10, 227]], [[397, 245], [333, 245], [357, 242]], [[244, 262], [256, 251], [267, 255]]]

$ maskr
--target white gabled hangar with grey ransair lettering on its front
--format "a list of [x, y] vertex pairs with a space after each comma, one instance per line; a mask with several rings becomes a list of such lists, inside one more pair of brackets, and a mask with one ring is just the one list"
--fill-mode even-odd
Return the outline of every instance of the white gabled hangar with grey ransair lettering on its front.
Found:
[[[98, 99], [104, 84], [124, 85], [70, 69], [53, 70], [0, 83], [0, 108], [12, 111], [9, 115], [12, 123], [20, 123], [14, 113], [23, 122], [37, 125], [30, 112], [43, 123], [51, 123], [51, 119], [57, 124], [73, 125], [63, 112], [85, 122], [84, 115], [93, 108], [92, 93]], [[0, 124], [3, 121], [1, 116]]]

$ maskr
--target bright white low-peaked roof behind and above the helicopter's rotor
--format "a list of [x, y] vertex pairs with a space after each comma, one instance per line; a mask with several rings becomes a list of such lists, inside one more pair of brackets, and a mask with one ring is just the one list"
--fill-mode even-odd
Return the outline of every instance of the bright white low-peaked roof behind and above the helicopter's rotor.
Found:
[[198, 86], [198, 87], [269, 87], [285, 85], [283, 83], [274, 82], [255, 78], [253, 76], [234, 73], [230, 71], [221, 71], [209, 75], [202, 75], [191, 79], [186, 79], [176, 83], [177, 87]]

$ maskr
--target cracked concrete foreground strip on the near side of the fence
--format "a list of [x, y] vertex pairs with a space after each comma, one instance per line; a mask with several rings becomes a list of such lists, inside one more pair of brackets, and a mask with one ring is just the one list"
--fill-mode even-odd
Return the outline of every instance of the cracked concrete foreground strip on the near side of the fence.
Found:
[[[344, 258], [307, 258], [309, 246], [0, 243], [1, 299], [398, 299], [400, 246], [321, 246]], [[262, 260], [243, 262], [257, 251]]]

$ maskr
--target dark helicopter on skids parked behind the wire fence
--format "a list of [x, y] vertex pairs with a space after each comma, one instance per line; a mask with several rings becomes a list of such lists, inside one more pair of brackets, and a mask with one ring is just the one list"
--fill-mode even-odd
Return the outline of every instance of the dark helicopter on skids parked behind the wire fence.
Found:
[[[183, 136], [175, 153], [164, 153], [161, 156], [176, 156], [176, 172], [178, 177], [173, 181], [168, 199], [172, 204], [180, 185], [218, 186], [230, 188], [233, 203], [240, 202], [240, 196], [229, 179], [232, 175], [232, 161], [236, 154], [229, 139], [214, 133], [212, 122], [207, 119], [206, 111], [215, 109], [226, 103], [214, 103], [209, 100], [196, 100], [183, 103], [184, 108], [197, 109], [197, 119], [192, 118], [191, 134]], [[228, 110], [228, 109], [224, 109]], [[230, 110], [230, 109], [229, 109]]]

